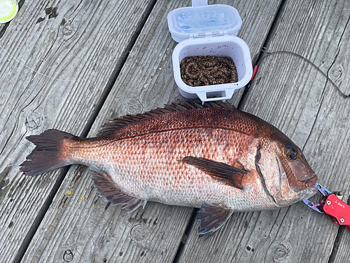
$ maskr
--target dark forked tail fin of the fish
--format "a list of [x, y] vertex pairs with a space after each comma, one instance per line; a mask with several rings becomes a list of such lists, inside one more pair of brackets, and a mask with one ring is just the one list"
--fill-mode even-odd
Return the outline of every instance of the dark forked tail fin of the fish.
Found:
[[50, 170], [73, 164], [69, 157], [69, 143], [78, 137], [60, 130], [46, 130], [41, 135], [31, 135], [27, 140], [36, 148], [27, 156], [20, 170], [25, 175], [40, 175]]

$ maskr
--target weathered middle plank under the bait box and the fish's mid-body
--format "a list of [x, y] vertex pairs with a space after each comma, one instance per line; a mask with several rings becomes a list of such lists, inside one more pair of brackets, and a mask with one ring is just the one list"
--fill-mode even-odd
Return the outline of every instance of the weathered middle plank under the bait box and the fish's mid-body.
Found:
[[[247, 39], [252, 57], [257, 58], [279, 1], [214, 3], [237, 7], [243, 19], [239, 36]], [[157, 2], [90, 136], [109, 119], [162, 107], [179, 97], [172, 72], [176, 43], [167, 28], [167, 13], [181, 6], [190, 6], [190, 1]], [[72, 195], [67, 196], [67, 191]], [[73, 253], [74, 262], [172, 262], [192, 212], [192, 208], [148, 203], [145, 210], [128, 215], [97, 197], [86, 169], [74, 167], [57, 191], [22, 262], [56, 262], [67, 250]]]

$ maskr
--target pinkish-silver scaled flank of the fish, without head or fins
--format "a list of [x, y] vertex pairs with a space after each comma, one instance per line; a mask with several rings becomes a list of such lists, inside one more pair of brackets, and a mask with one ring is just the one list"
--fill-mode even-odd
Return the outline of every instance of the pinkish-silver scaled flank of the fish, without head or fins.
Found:
[[[221, 128], [185, 128], [167, 130], [157, 136], [148, 133], [115, 140], [109, 146], [106, 146], [106, 139], [87, 140], [80, 150], [75, 148], [73, 151], [72, 154], [78, 153], [78, 158], [72, 158], [106, 170], [113, 182], [130, 196], [169, 205], [200, 207], [204, 199], [225, 204], [232, 196], [230, 193], [235, 192], [237, 210], [251, 210], [272, 205], [265, 205], [268, 199], [256, 173], [246, 177], [247, 183], [250, 181], [249, 184], [255, 185], [252, 190], [259, 189], [251, 193], [225, 186], [201, 170], [179, 162], [186, 156], [202, 156], [234, 164], [239, 158], [249, 170], [253, 163], [243, 153], [248, 151], [251, 140], [250, 135], [239, 137], [237, 133]], [[256, 202], [253, 206], [251, 196]]]

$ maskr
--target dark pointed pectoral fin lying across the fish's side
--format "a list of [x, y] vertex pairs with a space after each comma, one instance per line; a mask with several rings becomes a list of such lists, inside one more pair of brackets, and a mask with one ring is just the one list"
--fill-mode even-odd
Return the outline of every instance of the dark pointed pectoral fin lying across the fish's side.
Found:
[[228, 184], [238, 189], [243, 189], [242, 178], [248, 173], [246, 170], [229, 166], [226, 163], [218, 161], [211, 161], [209, 159], [201, 157], [188, 156], [181, 160], [183, 163], [188, 163], [191, 166], [195, 166], [202, 170], [207, 175], [210, 175], [213, 179]]

